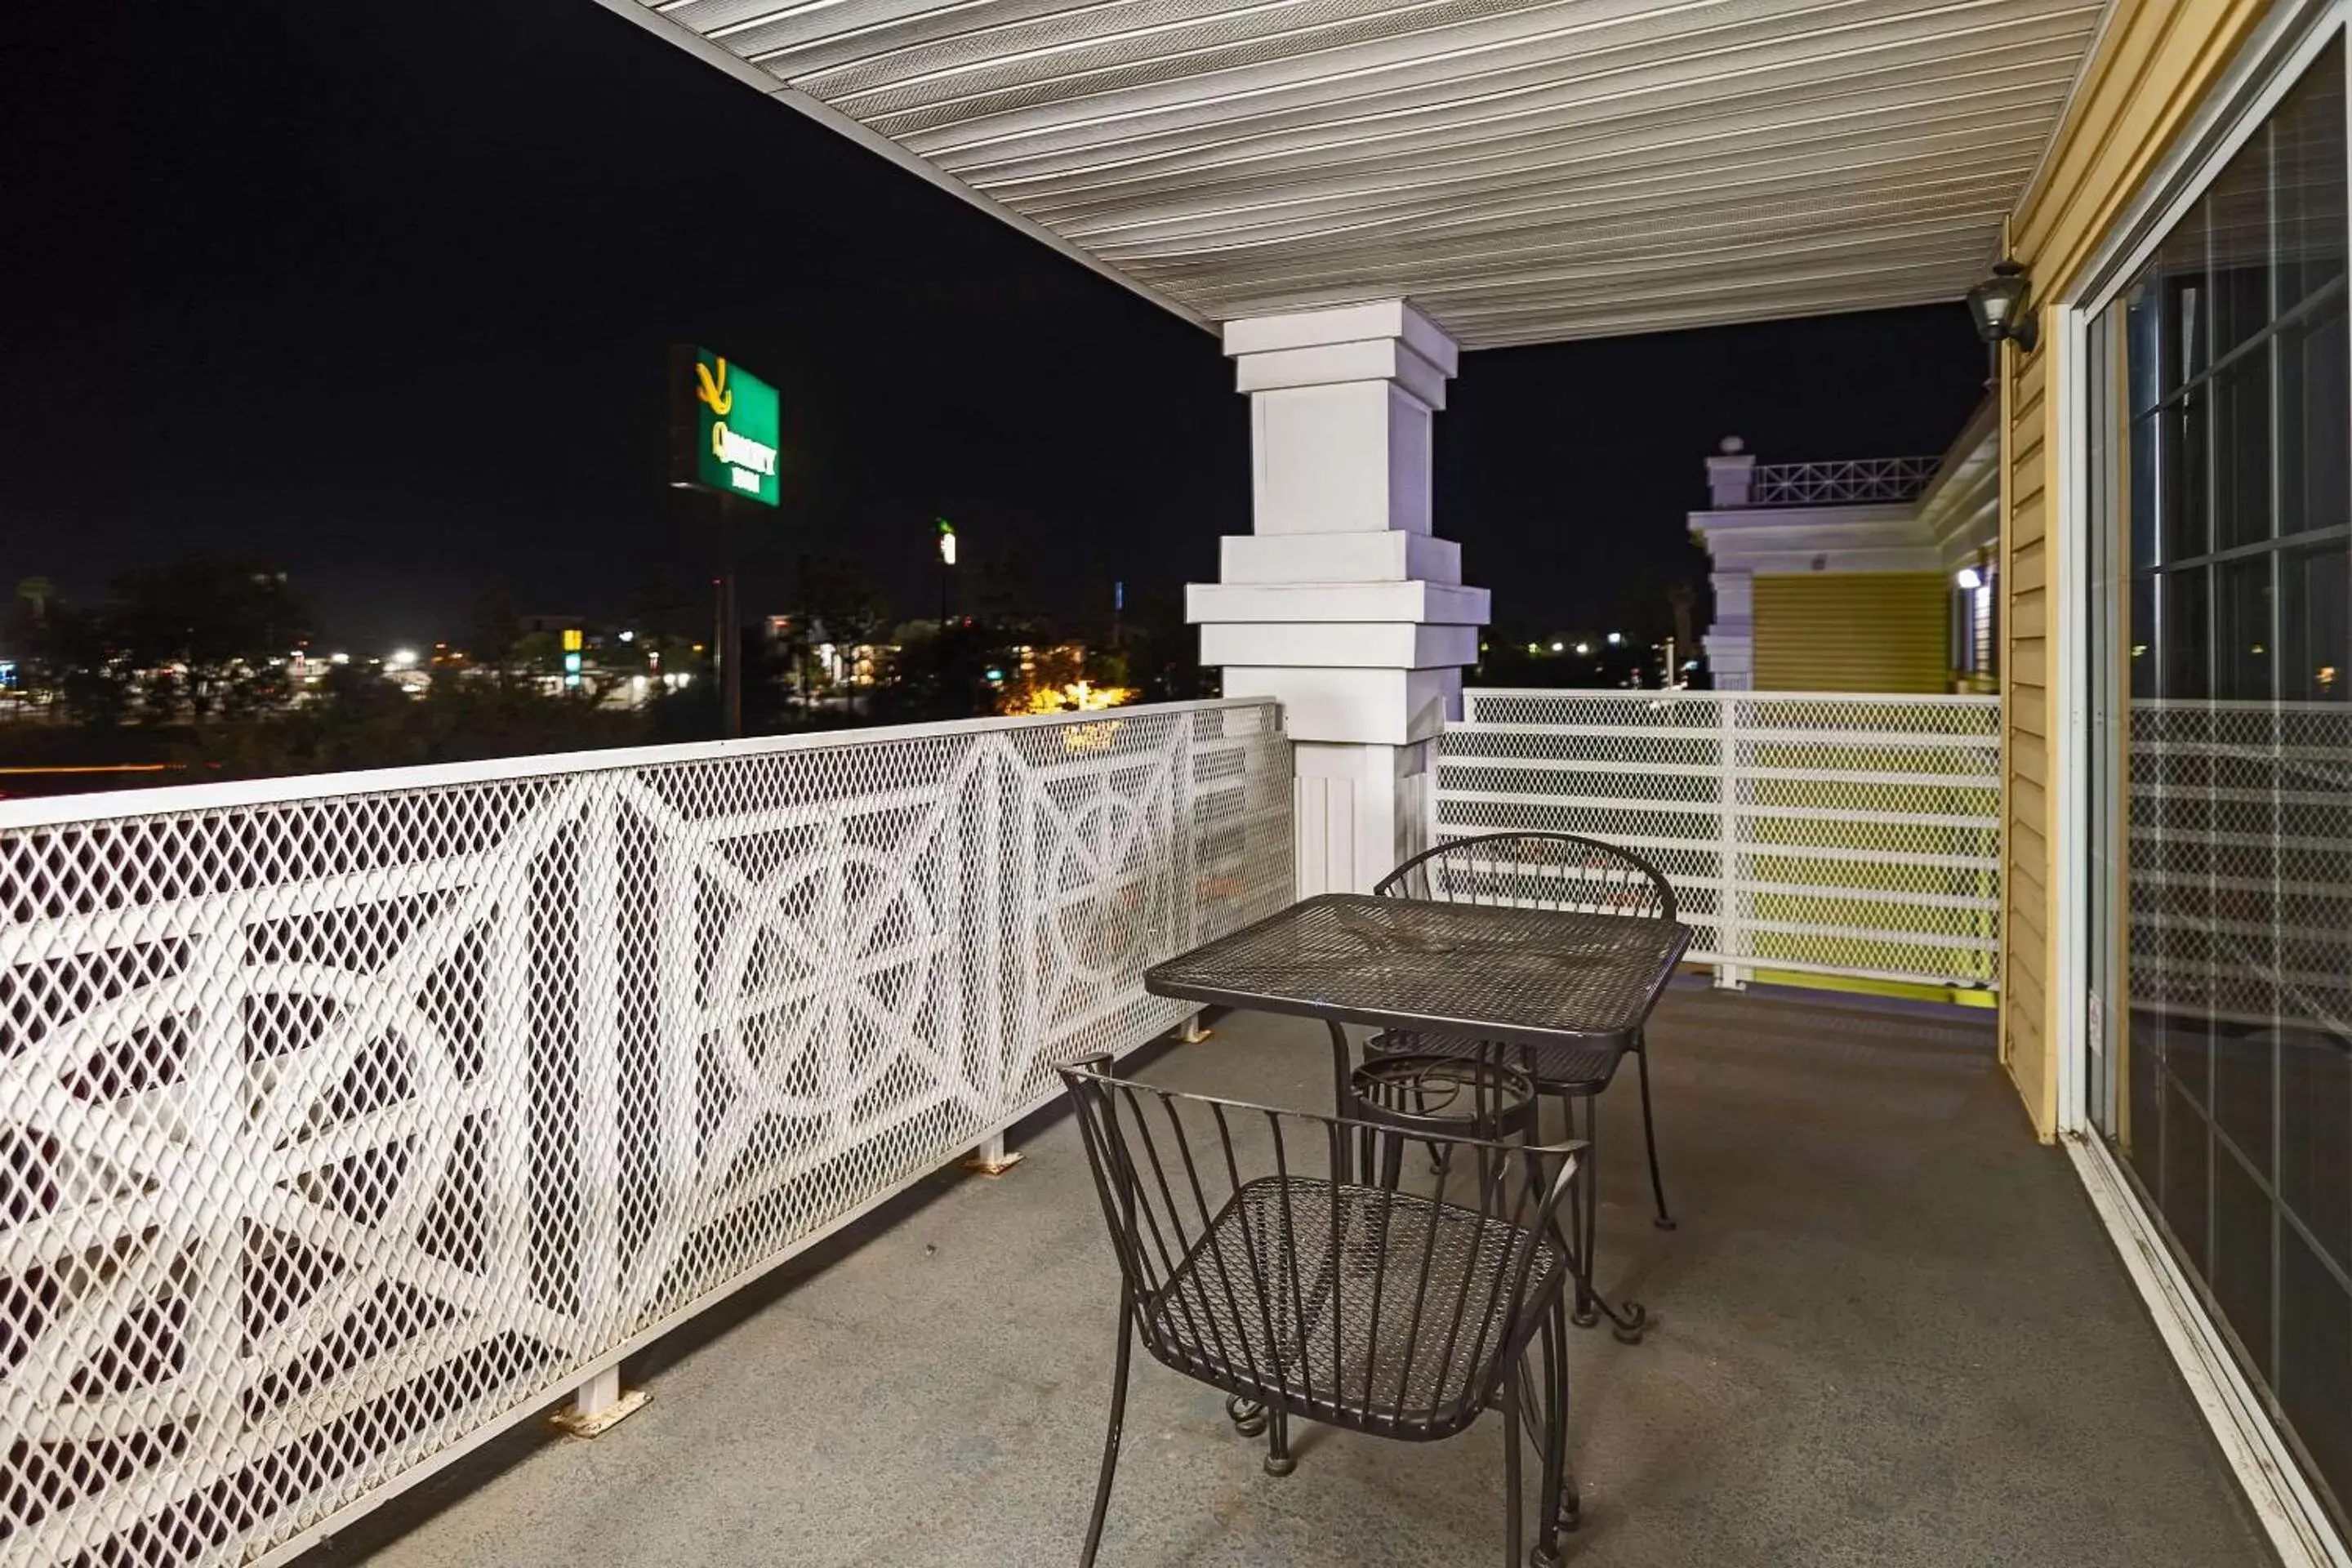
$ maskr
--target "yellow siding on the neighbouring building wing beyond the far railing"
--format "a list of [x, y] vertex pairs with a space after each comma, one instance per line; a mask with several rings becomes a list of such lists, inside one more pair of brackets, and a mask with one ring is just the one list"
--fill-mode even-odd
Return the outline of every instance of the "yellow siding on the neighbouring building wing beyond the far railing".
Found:
[[1947, 691], [1940, 571], [1816, 571], [1755, 581], [1757, 691]]

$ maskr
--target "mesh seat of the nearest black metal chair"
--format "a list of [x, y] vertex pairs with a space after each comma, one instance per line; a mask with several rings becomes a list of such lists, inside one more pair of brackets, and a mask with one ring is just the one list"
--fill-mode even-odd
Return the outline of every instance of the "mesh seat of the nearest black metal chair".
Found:
[[[1155, 1356], [1230, 1394], [1439, 1439], [1477, 1418], [1564, 1276], [1550, 1237], [1472, 1208], [1261, 1178], [1228, 1199], [1138, 1316]], [[1515, 1302], [1526, 1302], [1517, 1316]]]

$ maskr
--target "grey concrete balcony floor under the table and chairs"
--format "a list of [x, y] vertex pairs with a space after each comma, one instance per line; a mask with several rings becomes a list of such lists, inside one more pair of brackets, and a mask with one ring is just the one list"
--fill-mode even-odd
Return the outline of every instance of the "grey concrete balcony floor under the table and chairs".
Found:
[[[2032, 1143], [1990, 1013], [1677, 985], [1651, 1030], [1668, 1194], [1632, 1081], [1604, 1112], [1602, 1281], [1578, 1335], [1585, 1568], [2267, 1563], [2065, 1157]], [[1136, 1058], [1322, 1107], [1322, 1025], [1228, 1016]], [[626, 1366], [602, 1439], [536, 1422], [303, 1568], [1070, 1563], [1115, 1276], [1068, 1117], [1002, 1180], [943, 1173]], [[1501, 1427], [1301, 1427], [1270, 1479], [1221, 1396], [1138, 1352], [1103, 1563], [1494, 1563]]]

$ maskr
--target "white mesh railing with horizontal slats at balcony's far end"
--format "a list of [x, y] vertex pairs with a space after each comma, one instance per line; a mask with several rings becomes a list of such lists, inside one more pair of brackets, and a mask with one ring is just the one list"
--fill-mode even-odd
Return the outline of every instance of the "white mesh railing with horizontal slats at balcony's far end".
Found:
[[1548, 830], [1675, 884], [1696, 961], [1990, 987], [1999, 698], [1470, 691], [1432, 842]]

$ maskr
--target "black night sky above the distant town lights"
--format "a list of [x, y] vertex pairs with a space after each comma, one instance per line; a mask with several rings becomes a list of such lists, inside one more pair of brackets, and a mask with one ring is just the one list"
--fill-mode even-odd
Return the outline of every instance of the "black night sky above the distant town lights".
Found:
[[[1249, 425], [1216, 339], [590, 0], [28, 7], [0, 40], [0, 588], [181, 550], [285, 567], [334, 644], [696, 588], [663, 348], [779, 383], [804, 552], [931, 609], [931, 517], [1080, 625], [1216, 571]], [[1940, 451], [1964, 310], [1468, 355], [1439, 531], [1505, 630], [1698, 578], [1700, 458]]]

